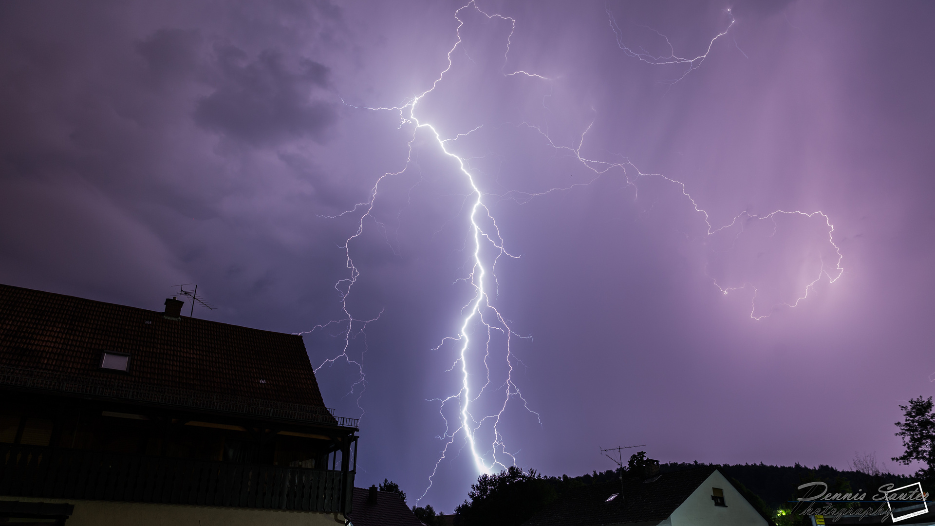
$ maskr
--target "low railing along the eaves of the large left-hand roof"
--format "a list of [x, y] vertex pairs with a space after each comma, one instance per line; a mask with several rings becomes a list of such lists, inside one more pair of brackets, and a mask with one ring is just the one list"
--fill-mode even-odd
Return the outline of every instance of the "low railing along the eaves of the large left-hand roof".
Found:
[[101, 398], [117, 398], [133, 402], [177, 405], [223, 413], [266, 416], [351, 428], [356, 428], [359, 421], [357, 418], [334, 416], [333, 409], [314, 405], [273, 402], [176, 387], [152, 386], [122, 378], [97, 378], [16, 367], [0, 367], [0, 386], [41, 389]]

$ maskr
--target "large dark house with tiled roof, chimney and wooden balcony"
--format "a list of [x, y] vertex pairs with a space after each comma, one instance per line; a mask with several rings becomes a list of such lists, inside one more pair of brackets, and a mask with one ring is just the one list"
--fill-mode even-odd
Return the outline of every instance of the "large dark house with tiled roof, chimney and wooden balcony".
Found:
[[302, 338], [182, 303], [0, 285], [0, 522], [345, 523], [357, 420]]

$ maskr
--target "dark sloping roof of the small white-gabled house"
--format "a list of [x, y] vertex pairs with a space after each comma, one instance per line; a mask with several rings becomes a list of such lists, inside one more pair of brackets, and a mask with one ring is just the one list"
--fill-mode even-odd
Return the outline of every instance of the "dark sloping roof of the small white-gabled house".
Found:
[[[714, 470], [691, 468], [648, 479], [651, 482], [626, 479], [622, 489], [619, 480], [571, 489], [523, 526], [654, 524], [668, 518]], [[621, 495], [606, 502], [614, 493]]]

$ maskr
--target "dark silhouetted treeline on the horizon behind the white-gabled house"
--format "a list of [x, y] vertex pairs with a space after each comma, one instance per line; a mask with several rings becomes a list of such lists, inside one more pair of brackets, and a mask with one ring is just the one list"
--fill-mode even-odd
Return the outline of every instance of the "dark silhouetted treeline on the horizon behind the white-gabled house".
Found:
[[[657, 464], [656, 460], [646, 458], [645, 451], [640, 451], [630, 457], [626, 468], [617, 472], [595, 471], [591, 475], [558, 477], [539, 475], [534, 470], [524, 473], [514, 466], [497, 475], [481, 475], [477, 484], [471, 485], [468, 500], [455, 509], [454, 524], [520, 526], [539, 510], [561, 498], [569, 489], [611, 482], [621, 476], [639, 478], [656, 471], [665, 474], [699, 466], [717, 467], [770, 525], [811, 524], [811, 521], [799, 512], [793, 512], [798, 497], [804, 496], [798, 486], [808, 482], [824, 482], [831, 493], [866, 492], [868, 499], [879, 495], [880, 487], [885, 484], [893, 484], [891, 488], [899, 488], [919, 481], [924, 490], [931, 491], [935, 488], [935, 402], [932, 401], [932, 397], [923, 399], [920, 396], [911, 399], [907, 405], [899, 405], [899, 409], [904, 412], [905, 417], [902, 422], [896, 423], [899, 430], [896, 435], [902, 438], [906, 449], [901, 456], [893, 460], [907, 465], [913, 462], [924, 464], [924, 467], [915, 473], [917, 478], [886, 473], [885, 469], [877, 466], [875, 453], [857, 455], [853, 460], [853, 470], [839, 471], [825, 464], [809, 468], [798, 462], [793, 466], [773, 466], [762, 462], [701, 464], [697, 461]], [[413, 509], [426, 524], [452, 524], [450, 517], [446, 518], [447, 520], [438, 520], [431, 506]]]

